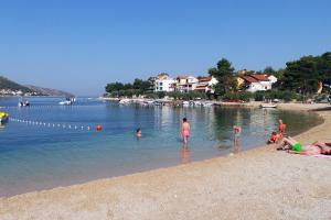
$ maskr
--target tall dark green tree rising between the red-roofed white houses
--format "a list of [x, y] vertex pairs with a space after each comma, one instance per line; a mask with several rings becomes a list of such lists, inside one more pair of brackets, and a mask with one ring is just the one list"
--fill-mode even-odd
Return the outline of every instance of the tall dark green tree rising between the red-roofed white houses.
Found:
[[222, 58], [217, 63], [217, 67], [211, 68], [209, 74], [218, 80], [218, 84], [215, 85], [215, 92], [217, 95], [224, 95], [228, 91], [236, 90], [237, 82], [234, 75], [234, 68], [227, 59]]

